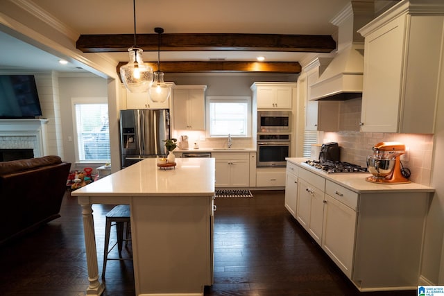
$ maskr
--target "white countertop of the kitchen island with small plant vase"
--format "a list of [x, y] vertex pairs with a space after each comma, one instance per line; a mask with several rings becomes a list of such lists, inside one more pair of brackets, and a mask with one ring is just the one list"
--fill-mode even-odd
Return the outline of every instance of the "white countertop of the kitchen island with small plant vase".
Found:
[[176, 158], [176, 167], [159, 168], [147, 158], [71, 192], [73, 196], [214, 195], [214, 158]]

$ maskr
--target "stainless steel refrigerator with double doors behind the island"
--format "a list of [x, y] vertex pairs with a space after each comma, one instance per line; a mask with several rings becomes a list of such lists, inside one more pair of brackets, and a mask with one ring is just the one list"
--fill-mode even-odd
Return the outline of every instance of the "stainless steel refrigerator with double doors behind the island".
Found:
[[169, 139], [169, 134], [169, 110], [121, 110], [121, 167], [167, 155], [164, 140]]

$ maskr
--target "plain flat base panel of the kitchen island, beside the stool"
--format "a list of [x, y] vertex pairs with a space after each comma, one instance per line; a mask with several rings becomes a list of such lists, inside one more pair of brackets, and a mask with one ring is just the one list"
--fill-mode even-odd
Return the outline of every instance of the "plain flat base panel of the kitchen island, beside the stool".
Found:
[[136, 295], [203, 295], [212, 284], [209, 197], [132, 198]]

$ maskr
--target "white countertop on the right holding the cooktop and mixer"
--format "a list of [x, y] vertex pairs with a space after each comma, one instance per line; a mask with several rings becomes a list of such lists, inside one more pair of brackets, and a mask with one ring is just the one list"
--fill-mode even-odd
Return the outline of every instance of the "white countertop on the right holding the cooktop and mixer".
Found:
[[307, 158], [303, 157], [288, 157], [287, 161], [305, 168], [308, 171], [316, 173], [325, 177], [326, 180], [330, 180], [336, 184], [344, 186], [357, 193], [380, 193], [381, 191], [387, 192], [434, 192], [435, 189], [429, 186], [425, 186], [417, 183], [407, 184], [380, 184], [366, 181], [366, 177], [370, 176], [370, 173], [339, 173], [329, 174], [324, 171], [318, 170], [309, 164], [305, 164]]

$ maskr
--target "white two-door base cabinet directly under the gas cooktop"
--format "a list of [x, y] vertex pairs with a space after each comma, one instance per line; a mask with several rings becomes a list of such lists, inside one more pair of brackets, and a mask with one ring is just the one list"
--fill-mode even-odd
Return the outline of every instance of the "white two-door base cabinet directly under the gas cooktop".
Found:
[[296, 220], [321, 245], [325, 180], [314, 173], [301, 170], [298, 181]]

